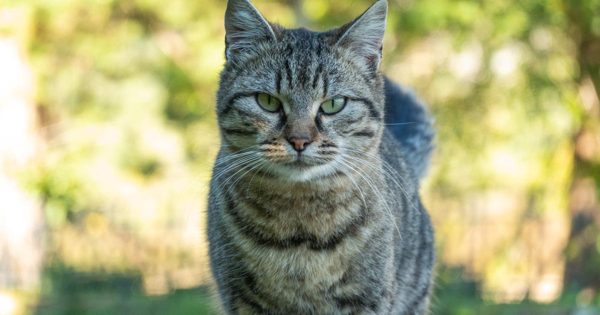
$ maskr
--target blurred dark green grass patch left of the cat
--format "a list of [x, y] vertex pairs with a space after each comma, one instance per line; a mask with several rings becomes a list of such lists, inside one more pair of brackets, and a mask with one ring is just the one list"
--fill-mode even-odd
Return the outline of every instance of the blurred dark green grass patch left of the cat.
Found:
[[217, 314], [207, 287], [147, 296], [141, 276], [75, 272], [51, 268], [31, 313], [38, 315]]

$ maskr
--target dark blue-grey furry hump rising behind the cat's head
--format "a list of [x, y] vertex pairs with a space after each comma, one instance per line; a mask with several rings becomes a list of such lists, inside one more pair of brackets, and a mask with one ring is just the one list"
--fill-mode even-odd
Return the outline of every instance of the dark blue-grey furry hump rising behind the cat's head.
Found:
[[415, 92], [385, 78], [385, 124], [400, 140], [406, 163], [422, 178], [427, 173], [436, 131]]

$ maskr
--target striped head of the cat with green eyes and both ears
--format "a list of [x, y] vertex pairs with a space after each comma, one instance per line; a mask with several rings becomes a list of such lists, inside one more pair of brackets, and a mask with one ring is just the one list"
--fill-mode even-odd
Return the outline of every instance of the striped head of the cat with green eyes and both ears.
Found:
[[[355, 168], [383, 131], [379, 74], [386, 0], [326, 32], [267, 22], [248, 0], [229, 0], [218, 124], [230, 154], [290, 181]], [[345, 154], [345, 155], [344, 155]], [[252, 157], [252, 158], [250, 158]]]

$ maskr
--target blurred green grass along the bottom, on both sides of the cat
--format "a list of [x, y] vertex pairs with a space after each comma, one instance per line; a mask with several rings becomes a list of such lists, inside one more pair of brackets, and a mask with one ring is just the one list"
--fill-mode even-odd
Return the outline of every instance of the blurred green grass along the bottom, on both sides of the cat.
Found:
[[[577, 307], [576, 290], [567, 290], [551, 304], [529, 300], [493, 304], [481, 298], [477, 283], [440, 280], [431, 303], [435, 315], [600, 314], [599, 305]], [[147, 296], [141, 283], [137, 274], [89, 273], [53, 267], [44, 272], [41, 296], [29, 310], [39, 315], [217, 314], [207, 287]]]

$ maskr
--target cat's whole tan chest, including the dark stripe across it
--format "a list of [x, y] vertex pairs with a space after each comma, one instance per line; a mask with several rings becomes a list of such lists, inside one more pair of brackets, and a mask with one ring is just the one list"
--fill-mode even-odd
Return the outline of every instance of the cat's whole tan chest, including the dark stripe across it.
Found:
[[[230, 202], [228, 220], [241, 261], [264, 304], [334, 312], [331, 290], [370, 236], [373, 215], [362, 200], [253, 199]], [[236, 223], [237, 222], [237, 223]], [[243, 224], [240, 224], [242, 222]]]

